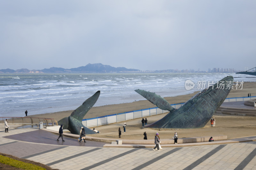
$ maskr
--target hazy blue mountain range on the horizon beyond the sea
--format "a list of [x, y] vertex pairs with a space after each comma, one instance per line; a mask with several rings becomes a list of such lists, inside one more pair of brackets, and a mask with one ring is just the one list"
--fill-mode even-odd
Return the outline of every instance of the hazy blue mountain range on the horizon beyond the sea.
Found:
[[86, 66], [81, 66], [73, 69], [63, 69], [57, 67], [51, 67], [50, 69], [43, 70], [28, 70], [28, 69], [2, 69], [0, 73], [120, 73], [120, 72], [140, 72], [137, 69], [126, 69], [125, 67], [111, 67], [110, 65], [103, 65], [101, 63], [97, 64], [87, 64]]

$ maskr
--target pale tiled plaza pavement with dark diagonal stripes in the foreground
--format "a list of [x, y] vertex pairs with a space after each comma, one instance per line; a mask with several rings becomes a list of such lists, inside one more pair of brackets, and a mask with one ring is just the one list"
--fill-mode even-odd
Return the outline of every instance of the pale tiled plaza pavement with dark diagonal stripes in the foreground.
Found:
[[[37, 132], [36, 130], [38, 129], [26, 128], [10, 130], [9, 133], [1, 131], [0, 152], [63, 170], [256, 169], [255, 141], [187, 147], [177, 145], [177, 147], [163, 147], [161, 151], [153, 151], [152, 148], [94, 147], [87, 146], [87, 143], [76, 145], [75, 143], [78, 142], [75, 139], [67, 137], [65, 140], [74, 141], [75, 146], [65, 145], [66, 141], [60, 145], [55, 139], [52, 144], [42, 144], [11, 138], [13, 135], [23, 133], [33, 134]], [[45, 137], [45, 140], [51, 140], [50, 138]]]

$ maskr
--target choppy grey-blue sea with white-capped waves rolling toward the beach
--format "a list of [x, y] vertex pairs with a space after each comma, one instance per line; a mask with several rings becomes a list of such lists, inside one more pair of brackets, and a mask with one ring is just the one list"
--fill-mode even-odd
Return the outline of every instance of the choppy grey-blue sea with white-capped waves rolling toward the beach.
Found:
[[98, 90], [94, 106], [146, 100], [136, 89], [161, 97], [189, 94], [202, 89], [186, 90], [186, 80], [216, 83], [229, 75], [255, 81], [235, 73], [0, 74], [0, 117], [74, 110]]

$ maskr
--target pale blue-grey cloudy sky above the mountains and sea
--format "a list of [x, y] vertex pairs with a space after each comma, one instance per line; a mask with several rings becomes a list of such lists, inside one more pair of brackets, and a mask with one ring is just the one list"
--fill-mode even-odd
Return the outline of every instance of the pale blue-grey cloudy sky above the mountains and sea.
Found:
[[254, 0], [0, 0], [0, 69], [256, 67]]

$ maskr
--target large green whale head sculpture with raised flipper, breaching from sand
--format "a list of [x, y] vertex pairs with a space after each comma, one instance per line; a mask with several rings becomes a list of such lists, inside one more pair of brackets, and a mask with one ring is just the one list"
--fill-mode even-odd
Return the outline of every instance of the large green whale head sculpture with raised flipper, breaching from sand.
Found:
[[193, 129], [204, 127], [227, 98], [233, 83], [233, 77], [227, 76], [213, 86], [197, 93], [178, 109], [169, 107], [170, 104], [155, 93], [139, 89], [135, 90], [157, 107], [170, 111], [170, 113], [165, 115], [162, 119], [146, 125], [145, 127], [166, 129]]

